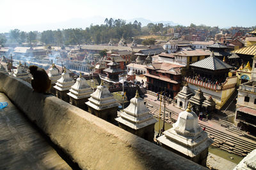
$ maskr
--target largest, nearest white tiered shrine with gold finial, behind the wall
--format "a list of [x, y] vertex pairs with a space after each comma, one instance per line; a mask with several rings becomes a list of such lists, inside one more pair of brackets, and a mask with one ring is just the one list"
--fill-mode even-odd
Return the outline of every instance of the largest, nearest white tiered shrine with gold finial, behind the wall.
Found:
[[164, 131], [157, 141], [163, 148], [202, 166], [206, 166], [208, 148], [214, 142], [198, 125], [198, 116], [191, 111], [190, 103], [186, 111], [180, 112], [173, 127]]

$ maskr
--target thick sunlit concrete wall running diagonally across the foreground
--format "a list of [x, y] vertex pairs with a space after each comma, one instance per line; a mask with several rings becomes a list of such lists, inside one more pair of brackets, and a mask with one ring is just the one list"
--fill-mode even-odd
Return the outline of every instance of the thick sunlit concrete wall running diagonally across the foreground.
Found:
[[0, 91], [82, 169], [205, 169], [3, 72]]

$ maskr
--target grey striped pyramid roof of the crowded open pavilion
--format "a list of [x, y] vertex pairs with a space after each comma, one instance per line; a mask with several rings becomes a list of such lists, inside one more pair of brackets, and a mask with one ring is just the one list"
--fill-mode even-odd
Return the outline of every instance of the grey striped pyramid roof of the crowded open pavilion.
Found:
[[196, 63], [193, 63], [190, 66], [196, 66], [196, 67], [205, 68], [208, 70], [223, 70], [223, 69], [232, 68], [232, 66], [216, 58], [214, 54], [211, 54], [209, 58], [205, 58], [200, 61], [197, 61]]

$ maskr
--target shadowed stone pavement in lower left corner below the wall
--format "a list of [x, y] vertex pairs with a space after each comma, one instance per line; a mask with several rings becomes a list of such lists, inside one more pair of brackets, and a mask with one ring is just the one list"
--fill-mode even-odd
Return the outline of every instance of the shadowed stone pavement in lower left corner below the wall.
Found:
[[71, 169], [3, 93], [0, 102], [0, 169]]

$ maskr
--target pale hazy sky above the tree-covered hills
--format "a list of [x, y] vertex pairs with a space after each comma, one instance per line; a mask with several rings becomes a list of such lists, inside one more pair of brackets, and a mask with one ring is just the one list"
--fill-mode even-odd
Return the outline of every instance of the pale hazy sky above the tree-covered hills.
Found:
[[[100, 20], [100, 17], [170, 20], [184, 26], [191, 22], [219, 27], [256, 25], [255, 0], [0, 0], [0, 5], [0, 33], [15, 28], [29, 31], [35, 25], [54, 29], [52, 25], [56, 23], [95, 16]], [[99, 22], [95, 19], [94, 24]]]

